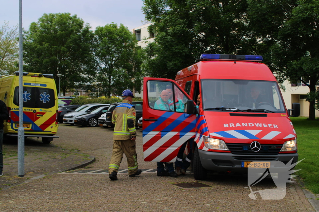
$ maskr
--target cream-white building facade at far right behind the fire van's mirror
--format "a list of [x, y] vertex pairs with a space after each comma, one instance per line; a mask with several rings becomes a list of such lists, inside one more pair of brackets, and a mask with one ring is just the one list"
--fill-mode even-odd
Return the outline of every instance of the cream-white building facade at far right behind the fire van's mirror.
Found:
[[[286, 87], [286, 91], [282, 91], [287, 109], [291, 109], [294, 102], [300, 103], [300, 116], [309, 116], [309, 102], [306, 101], [306, 94], [309, 93], [309, 87], [305, 84], [294, 85], [289, 81], [285, 81], [283, 85]], [[319, 117], [319, 111], [316, 110], [315, 116]]]

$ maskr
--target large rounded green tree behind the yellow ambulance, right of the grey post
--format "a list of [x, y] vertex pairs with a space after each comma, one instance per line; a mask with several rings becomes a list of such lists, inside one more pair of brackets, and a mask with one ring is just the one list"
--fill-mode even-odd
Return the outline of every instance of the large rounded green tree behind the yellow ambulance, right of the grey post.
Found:
[[[30, 25], [24, 42], [24, 69], [29, 72], [62, 74], [63, 95], [92, 74], [90, 25], [70, 13], [43, 14]], [[57, 85], [58, 86], [58, 85]]]

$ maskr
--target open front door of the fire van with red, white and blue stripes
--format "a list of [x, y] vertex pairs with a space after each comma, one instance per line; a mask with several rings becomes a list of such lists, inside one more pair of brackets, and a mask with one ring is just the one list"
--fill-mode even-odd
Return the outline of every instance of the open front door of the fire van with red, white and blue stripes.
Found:
[[182, 144], [195, 137], [196, 114], [186, 113], [187, 105], [195, 107], [190, 99], [174, 80], [144, 78], [144, 161], [175, 162]]

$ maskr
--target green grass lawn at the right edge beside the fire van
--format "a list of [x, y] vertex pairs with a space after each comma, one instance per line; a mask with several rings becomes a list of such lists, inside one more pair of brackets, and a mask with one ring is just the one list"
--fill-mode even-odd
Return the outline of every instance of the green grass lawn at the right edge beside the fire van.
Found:
[[319, 120], [310, 121], [306, 117], [290, 117], [297, 133], [299, 159], [295, 172], [303, 179], [305, 187], [319, 194]]

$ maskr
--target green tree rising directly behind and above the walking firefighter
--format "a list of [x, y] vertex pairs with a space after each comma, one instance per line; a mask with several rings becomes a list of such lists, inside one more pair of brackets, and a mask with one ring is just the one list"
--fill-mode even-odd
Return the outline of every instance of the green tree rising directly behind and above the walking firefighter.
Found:
[[135, 36], [123, 24], [98, 26], [94, 31], [93, 52], [97, 81], [105, 96], [132, 89], [139, 76], [138, 49]]

